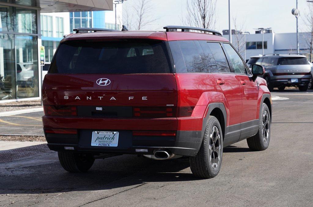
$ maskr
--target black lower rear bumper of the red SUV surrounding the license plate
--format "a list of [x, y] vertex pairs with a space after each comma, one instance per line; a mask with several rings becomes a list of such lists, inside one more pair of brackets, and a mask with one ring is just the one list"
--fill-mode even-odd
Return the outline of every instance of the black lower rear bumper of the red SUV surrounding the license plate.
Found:
[[[195, 156], [202, 143], [201, 131], [177, 131], [176, 136], [133, 136], [130, 130], [119, 130], [117, 147], [91, 146], [94, 130], [78, 130], [77, 135], [45, 134], [50, 150], [91, 154], [153, 155], [168, 150], [175, 155]], [[109, 131], [109, 130], [108, 130]], [[72, 150], [68, 147], [72, 147]]]

